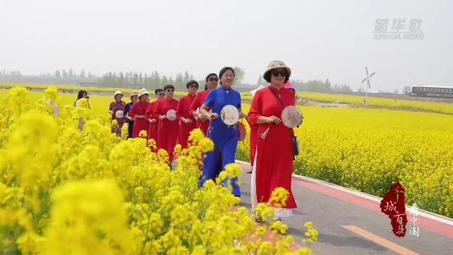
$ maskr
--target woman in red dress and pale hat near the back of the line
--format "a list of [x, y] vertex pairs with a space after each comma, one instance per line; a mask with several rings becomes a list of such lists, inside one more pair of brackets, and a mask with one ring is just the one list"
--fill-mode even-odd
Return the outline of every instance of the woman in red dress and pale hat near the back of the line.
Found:
[[134, 130], [132, 137], [139, 137], [140, 131], [145, 130], [148, 132], [148, 120], [145, 113], [149, 106], [148, 102], [149, 93], [146, 89], [139, 91], [139, 101], [135, 102], [129, 111], [129, 115], [134, 118]]

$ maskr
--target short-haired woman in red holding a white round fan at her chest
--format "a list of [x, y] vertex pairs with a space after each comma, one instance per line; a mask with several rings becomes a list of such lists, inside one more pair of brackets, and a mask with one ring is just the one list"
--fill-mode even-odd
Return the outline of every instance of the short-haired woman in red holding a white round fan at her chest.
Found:
[[171, 162], [173, 162], [173, 151], [176, 141], [178, 141], [179, 125], [178, 116], [176, 115], [178, 100], [173, 98], [174, 93], [175, 86], [172, 84], [165, 85], [165, 97], [157, 101], [156, 107], [153, 110], [153, 118], [159, 120], [159, 128], [157, 128], [157, 149], [165, 149], [168, 152], [168, 165], [171, 165]]

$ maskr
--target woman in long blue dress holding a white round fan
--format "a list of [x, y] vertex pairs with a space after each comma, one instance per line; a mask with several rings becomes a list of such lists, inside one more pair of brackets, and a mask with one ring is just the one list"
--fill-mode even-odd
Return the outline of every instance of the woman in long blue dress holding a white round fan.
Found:
[[[217, 89], [213, 89], [207, 95], [205, 103], [201, 108], [201, 113], [210, 119], [210, 129], [207, 137], [210, 137], [214, 142], [214, 151], [207, 152], [203, 160], [203, 172], [200, 178], [200, 186], [202, 187], [207, 180], [215, 180], [221, 171], [224, 171], [225, 165], [234, 163], [236, 149], [238, 145], [238, 128], [237, 125], [226, 125], [219, 118], [220, 111], [227, 105], [236, 106], [239, 111], [239, 118], [246, 115], [241, 111], [241, 94], [231, 88], [234, 83], [234, 70], [231, 67], [224, 67], [219, 72], [220, 85]], [[212, 110], [212, 113], [208, 111]], [[241, 191], [237, 185], [238, 178], [231, 179], [233, 195], [240, 197]], [[228, 179], [224, 180], [224, 186]]]

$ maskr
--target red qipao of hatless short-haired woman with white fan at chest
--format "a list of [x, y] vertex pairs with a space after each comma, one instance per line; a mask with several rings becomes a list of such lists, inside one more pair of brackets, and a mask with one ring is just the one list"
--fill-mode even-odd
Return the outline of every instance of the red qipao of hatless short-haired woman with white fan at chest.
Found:
[[[159, 116], [167, 114], [168, 110], [178, 108], [178, 100], [176, 99], [161, 99], [157, 101], [153, 111], [153, 118], [159, 120]], [[170, 163], [173, 162], [173, 150], [178, 140], [178, 120], [159, 120], [157, 128], [157, 149], [165, 149], [170, 157]]]

